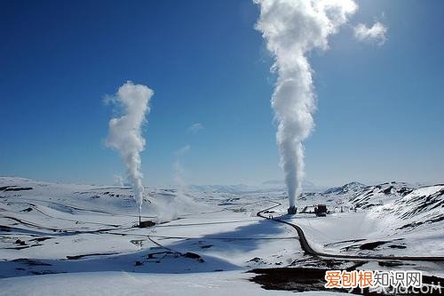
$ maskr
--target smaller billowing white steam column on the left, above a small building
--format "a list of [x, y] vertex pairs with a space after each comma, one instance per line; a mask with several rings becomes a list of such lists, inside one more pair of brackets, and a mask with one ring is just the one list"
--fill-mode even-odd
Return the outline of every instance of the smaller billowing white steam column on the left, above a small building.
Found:
[[143, 186], [140, 172], [140, 152], [145, 148], [141, 127], [149, 113], [149, 100], [153, 91], [145, 85], [133, 84], [131, 81], [123, 84], [115, 97], [110, 101], [122, 108], [123, 116], [109, 121], [107, 147], [119, 151], [127, 168], [128, 179], [132, 183], [134, 197], [142, 210]]

